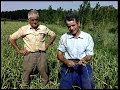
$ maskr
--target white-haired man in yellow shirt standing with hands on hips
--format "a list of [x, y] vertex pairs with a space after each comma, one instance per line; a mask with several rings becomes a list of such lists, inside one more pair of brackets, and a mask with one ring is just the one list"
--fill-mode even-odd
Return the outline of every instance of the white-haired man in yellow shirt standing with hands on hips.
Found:
[[[23, 80], [22, 86], [29, 86], [30, 73], [37, 67], [42, 80], [45, 84], [49, 82], [48, 65], [47, 65], [47, 48], [54, 42], [56, 34], [45, 25], [39, 25], [39, 13], [36, 10], [28, 12], [28, 25], [20, 27], [9, 37], [9, 42], [17, 52], [24, 55], [23, 60]], [[45, 36], [50, 36], [45, 43]], [[22, 37], [24, 49], [21, 49], [16, 40]]]

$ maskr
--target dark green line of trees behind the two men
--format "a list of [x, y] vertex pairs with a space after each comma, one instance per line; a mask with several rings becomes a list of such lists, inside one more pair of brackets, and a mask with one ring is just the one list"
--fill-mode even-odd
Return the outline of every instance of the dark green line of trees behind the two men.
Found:
[[[26, 21], [27, 14], [30, 10], [16, 10], [16, 11], [2, 11], [1, 20], [20, 20]], [[76, 13], [80, 17], [81, 24], [84, 25], [96, 25], [101, 22], [115, 22], [118, 21], [118, 9], [115, 9], [112, 5], [100, 6], [99, 2], [94, 8], [91, 8], [90, 1], [83, 1], [78, 10], [64, 10], [62, 7], [54, 10], [50, 5], [48, 9], [38, 9], [40, 14], [40, 22], [48, 24], [64, 25], [64, 16], [68, 13]]]

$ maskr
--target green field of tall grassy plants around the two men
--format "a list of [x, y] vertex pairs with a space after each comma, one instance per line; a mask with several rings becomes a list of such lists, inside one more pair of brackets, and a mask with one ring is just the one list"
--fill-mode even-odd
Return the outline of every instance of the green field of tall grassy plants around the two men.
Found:
[[[27, 22], [1, 22], [1, 89], [20, 88], [23, 55], [18, 54], [8, 43], [8, 37], [25, 24]], [[55, 42], [47, 50], [51, 83], [44, 86], [40, 82], [40, 75], [36, 74], [31, 80], [31, 89], [58, 89], [59, 86], [60, 63], [56, 52], [60, 36], [67, 31], [67, 28], [59, 25], [45, 25], [57, 34]], [[100, 24], [90, 29], [86, 27], [83, 30], [91, 34], [95, 43], [95, 54], [90, 64], [93, 68], [96, 89], [118, 89], [117, 30], [117, 25], [114, 23]], [[23, 48], [21, 38], [17, 43]]]

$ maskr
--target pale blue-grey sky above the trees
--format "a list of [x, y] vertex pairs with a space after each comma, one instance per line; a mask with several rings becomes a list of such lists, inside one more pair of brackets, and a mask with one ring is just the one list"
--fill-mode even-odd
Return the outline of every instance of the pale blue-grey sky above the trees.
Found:
[[[91, 7], [94, 8], [98, 2], [100, 6], [113, 5], [113, 7], [118, 9], [118, 1], [90, 1]], [[1, 11], [48, 9], [50, 5], [52, 9], [61, 7], [63, 10], [78, 10], [82, 3], [83, 1], [1, 1]]]

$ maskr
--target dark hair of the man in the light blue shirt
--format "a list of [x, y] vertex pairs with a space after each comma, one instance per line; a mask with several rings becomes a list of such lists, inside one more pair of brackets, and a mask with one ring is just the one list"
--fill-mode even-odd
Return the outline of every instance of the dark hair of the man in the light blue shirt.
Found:
[[64, 22], [66, 23], [66, 21], [73, 21], [73, 20], [75, 20], [78, 23], [79, 17], [77, 14], [71, 13], [65, 16]]

